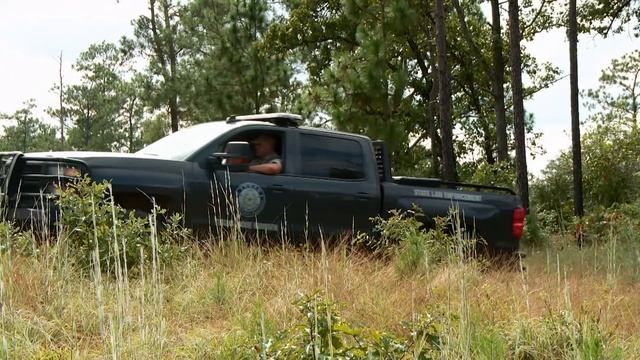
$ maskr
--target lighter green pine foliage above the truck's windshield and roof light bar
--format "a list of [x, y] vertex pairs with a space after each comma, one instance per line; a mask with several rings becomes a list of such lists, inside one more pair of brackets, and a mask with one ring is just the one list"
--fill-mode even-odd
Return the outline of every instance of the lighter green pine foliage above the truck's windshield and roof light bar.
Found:
[[181, 97], [192, 122], [294, 106], [299, 92], [292, 60], [260, 47], [277, 20], [264, 0], [194, 1], [185, 8], [181, 21], [192, 52]]

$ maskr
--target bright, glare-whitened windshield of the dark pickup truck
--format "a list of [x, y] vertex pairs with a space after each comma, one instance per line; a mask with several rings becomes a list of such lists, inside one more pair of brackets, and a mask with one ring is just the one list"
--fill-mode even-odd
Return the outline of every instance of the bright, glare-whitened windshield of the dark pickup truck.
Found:
[[186, 160], [233, 125], [224, 121], [198, 124], [174, 132], [138, 151], [137, 154], [170, 160]]

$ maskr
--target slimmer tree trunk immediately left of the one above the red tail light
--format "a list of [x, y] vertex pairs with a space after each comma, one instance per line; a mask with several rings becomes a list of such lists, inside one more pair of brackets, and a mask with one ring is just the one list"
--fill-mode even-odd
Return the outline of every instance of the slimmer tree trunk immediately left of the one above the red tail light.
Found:
[[502, 57], [502, 29], [500, 25], [500, 4], [491, 0], [491, 34], [493, 52], [493, 76], [491, 87], [494, 96], [494, 112], [496, 114], [496, 141], [498, 145], [498, 161], [509, 160], [507, 145], [507, 121], [504, 108], [504, 58]]

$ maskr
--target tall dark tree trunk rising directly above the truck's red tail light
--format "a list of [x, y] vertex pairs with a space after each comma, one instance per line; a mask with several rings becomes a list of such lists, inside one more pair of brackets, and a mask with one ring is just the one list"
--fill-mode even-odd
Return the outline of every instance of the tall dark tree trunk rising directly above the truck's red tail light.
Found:
[[513, 97], [513, 137], [516, 143], [516, 188], [522, 205], [529, 209], [529, 179], [527, 144], [524, 129], [524, 99], [522, 93], [522, 58], [520, 54], [520, 9], [518, 0], [509, 0], [509, 61]]

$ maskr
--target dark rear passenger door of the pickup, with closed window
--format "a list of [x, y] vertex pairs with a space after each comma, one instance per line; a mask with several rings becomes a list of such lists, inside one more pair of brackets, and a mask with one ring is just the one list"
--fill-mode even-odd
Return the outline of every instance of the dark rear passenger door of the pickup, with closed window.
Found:
[[363, 142], [332, 134], [298, 134], [294, 224], [325, 234], [370, 230], [370, 218], [380, 210], [380, 190], [375, 166], [365, 161]]

